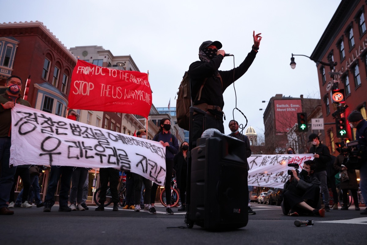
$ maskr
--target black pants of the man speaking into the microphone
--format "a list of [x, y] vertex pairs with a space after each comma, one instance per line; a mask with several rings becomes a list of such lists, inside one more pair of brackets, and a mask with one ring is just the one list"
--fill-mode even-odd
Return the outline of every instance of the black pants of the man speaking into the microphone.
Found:
[[212, 115], [207, 115], [205, 126], [203, 121], [203, 115], [196, 114], [193, 116], [193, 133], [192, 139], [190, 139], [190, 142], [192, 142], [193, 146], [196, 146], [196, 140], [198, 138], [201, 138], [201, 134], [203, 134], [206, 129], [218, 129], [219, 131], [221, 131], [221, 133], [224, 133], [223, 120], [221, 118], [215, 118]]

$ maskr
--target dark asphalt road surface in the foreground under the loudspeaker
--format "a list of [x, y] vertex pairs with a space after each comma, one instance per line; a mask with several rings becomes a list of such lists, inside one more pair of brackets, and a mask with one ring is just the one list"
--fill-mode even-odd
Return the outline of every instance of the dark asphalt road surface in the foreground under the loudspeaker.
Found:
[[[279, 206], [252, 204], [256, 215], [249, 215], [246, 227], [212, 232], [199, 226], [185, 227], [184, 212], [166, 215], [157, 205], [157, 214], [123, 210], [113, 212], [112, 206], [97, 212], [50, 213], [43, 208], [14, 208], [14, 215], [0, 216], [0, 244], [367, 244], [367, 216], [354, 206], [349, 210], [332, 210], [326, 216], [284, 216]], [[364, 209], [364, 207], [362, 207]], [[294, 220], [314, 220], [313, 226], [296, 227]]]

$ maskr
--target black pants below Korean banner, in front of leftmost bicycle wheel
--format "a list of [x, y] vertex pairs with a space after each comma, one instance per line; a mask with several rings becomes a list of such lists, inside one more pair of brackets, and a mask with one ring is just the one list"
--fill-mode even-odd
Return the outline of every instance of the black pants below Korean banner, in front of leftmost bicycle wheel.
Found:
[[112, 202], [117, 203], [119, 198], [117, 197], [117, 185], [119, 184], [119, 170], [112, 167], [100, 168], [99, 177], [101, 180], [101, 191], [99, 192], [99, 203], [106, 201], [106, 192], [108, 182], [110, 182], [110, 191], [112, 195]]

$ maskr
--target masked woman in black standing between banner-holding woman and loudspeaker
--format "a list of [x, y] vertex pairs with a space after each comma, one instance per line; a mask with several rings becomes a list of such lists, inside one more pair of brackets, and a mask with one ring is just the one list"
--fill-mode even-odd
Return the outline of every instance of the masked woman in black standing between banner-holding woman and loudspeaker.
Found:
[[183, 141], [178, 154], [173, 158], [174, 170], [176, 171], [177, 188], [180, 191], [182, 207], [178, 211], [185, 211], [186, 198], [186, 184], [187, 184], [187, 152], [189, 150], [189, 143]]

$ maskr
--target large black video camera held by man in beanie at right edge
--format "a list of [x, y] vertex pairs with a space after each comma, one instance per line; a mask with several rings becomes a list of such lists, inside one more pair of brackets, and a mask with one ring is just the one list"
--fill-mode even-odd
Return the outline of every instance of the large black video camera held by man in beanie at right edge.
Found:
[[346, 167], [360, 169], [362, 159], [358, 157], [365, 154], [366, 145], [360, 145], [358, 140], [355, 140], [346, 143], [345, 146], [347, 148], [342, 148], [342, 153], [348, 154], [348, 158], [345, 163]]

